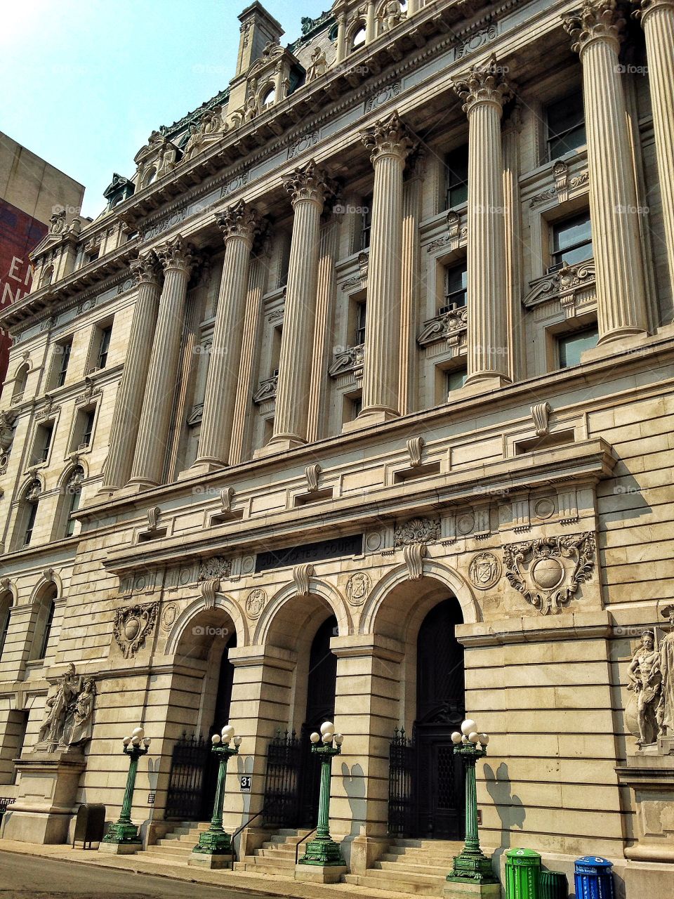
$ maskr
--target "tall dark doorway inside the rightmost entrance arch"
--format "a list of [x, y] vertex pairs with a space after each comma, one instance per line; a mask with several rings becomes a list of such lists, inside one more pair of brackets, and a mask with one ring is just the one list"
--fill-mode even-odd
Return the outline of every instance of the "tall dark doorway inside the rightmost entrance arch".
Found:
[[431, 609], [417, 638], [417, 755], [415, 836], [458, 840], [463, 835], [464, 776], [453, 731], [466, 714], [464, 652], [455, 636], [463, 622], [456, 600]]

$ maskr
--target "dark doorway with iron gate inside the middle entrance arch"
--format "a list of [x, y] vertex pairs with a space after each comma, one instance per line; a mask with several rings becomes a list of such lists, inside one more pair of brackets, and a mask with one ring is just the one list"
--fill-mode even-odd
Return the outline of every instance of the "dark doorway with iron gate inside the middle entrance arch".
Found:
[[279, 734], [270, 742], [265, 779], [265, 823], [278, 827], [313, 828], [318, 815], [321, 766], [311, 752], [309, 735], [334, 717], [337, 656], [330, 641], [338, 632], [334, 615], [318, 626], [306, 668], [298, 665], [298, 695], [306, 703], [298, 731]]

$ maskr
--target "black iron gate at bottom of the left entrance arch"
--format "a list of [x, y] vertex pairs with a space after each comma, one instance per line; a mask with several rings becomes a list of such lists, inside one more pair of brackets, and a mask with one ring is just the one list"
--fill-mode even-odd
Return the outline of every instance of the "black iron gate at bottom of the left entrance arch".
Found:
[[173, 746], [165, 818], [202, 820], [210, 767], [210, 746], [210, 741], [204, 740], [201, 735], [188, 736], [184, 732]]

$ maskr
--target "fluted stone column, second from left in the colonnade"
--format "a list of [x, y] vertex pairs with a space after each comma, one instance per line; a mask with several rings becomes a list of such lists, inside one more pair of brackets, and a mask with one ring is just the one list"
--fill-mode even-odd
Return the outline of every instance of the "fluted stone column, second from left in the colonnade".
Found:
[[159, 484], [164, 470], [187, 284], [193, 263], [191, 246], [181, 236], [157, 246], [155, 252], [164, 266], [164, 289], [159, 300], [136, 454], [129, 481], [129, 484], [141, 487]]

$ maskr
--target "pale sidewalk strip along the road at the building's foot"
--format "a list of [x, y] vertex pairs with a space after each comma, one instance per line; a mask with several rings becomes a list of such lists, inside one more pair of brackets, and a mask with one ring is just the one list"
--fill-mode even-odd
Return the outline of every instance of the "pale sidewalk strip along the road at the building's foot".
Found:
[[39, 846], [14, 840], [0, 840], [0, 851], [17, 852], [21, 855], [41, 859], [74, 861], [81, 865], [97, 868], [115, 868], [131, 874], [151, 874], [155, 877], [171, 877], [194, 884], [214, 884], [279, 899], [316, 899], [317, 895], [333, 899], [410, 899], [406, 893], [392, 893], [388, 890], [372, 890], [365, 886], [350, 884], [306, 884], [287, 877], [260, 877], [238, 871], [210, 871], [175, 865], [171, 862], [146, 859], [143, 852], [136, 855], [104, 855], [96, 850], [71, 849], [70, 846]]

